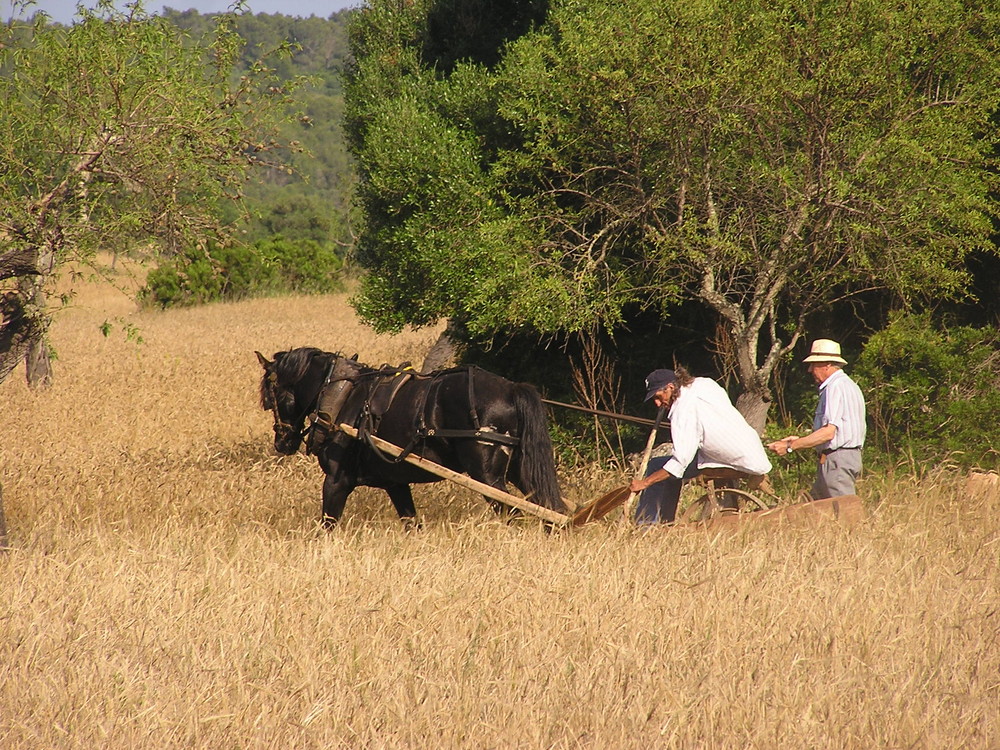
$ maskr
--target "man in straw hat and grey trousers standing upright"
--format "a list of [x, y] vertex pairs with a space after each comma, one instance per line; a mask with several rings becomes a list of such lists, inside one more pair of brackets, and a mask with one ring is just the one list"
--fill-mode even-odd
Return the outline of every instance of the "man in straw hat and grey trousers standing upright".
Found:
[[854, 495], [865, 444], [865, 397], [841, 369], [847, 360], [836, 341], [816, 339], [803, 362], [819, 386], [813, 431], [802, 437], [789, 435], [767, 447], [778, 455], [815, 449], [819, 463], [810, 493], [814, 500]]

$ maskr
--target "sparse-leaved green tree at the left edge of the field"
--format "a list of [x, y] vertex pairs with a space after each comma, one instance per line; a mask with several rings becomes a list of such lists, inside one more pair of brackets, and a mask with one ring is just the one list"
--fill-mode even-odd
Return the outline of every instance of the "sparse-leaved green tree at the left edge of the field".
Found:
[[80, 13], [69, 28], [43, 16], [10, 24], [0, 39], [0, 280], [18, 284], [5, 298], [0, 380], [22, 356], [29, 382], [51, 377], [46, 292], [67, 262], [224, 241], [220, 207], [272, 164], [297, 85], [265, 60], [234, 74], [232, 14], [192, 39], [141, 3]]

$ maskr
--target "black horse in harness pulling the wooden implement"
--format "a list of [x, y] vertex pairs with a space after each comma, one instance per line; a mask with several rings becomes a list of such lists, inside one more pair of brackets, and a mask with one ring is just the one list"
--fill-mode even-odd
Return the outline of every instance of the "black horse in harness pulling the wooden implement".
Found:
[[[260, 404], [274, 414], [274, 448], [291, 455], [306, 440], [326, 474], [324, 525], [333, 526], [355, 487], [381, 487], [404, 523], [415, 522], [410, 485], [441, 477], [379, 451], [382, 438], [404, 455], [422, 456], [531, 501], [566, 512], [559, 495], [545, 407], [530, 385], [475, 367], [428, 375], [407, 367], [372, 368], [339, 353], [302, 347], [278, 352], [264, 367]], [[336, 425], [358, 430], [354, 439]], [[487, 498], [498, 512], [510, 508]]]

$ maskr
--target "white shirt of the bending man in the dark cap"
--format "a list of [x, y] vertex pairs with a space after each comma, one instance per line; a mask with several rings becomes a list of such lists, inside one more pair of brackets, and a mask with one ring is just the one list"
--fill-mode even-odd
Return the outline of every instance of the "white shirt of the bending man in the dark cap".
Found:
[[771, 462], [760, 435], [743, 418], [722, 386], [695, 378], [680, 389], [670, 407], [673, 457], [663, 468], [675, 477], [697, 460], [699, 469], [731, 467], [748, 474], [766, 474]]

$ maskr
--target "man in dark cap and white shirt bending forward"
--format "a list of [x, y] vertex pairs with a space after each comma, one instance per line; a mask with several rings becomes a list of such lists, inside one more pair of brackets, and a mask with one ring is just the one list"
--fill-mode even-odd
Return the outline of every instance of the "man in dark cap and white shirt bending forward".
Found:
[[702, 469], [727, 467], [763, 475], [771, 462], [760, 436], [747, 424], [725, 390], [709, 378], [693, 378], [683, 368], [654, 370], [646, 378], [646, 400], [669, 409], [672, 456], [650, 461], [632, 492], [641, 492], [639, 524], [672, 523], [685, 479]]

